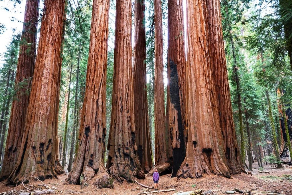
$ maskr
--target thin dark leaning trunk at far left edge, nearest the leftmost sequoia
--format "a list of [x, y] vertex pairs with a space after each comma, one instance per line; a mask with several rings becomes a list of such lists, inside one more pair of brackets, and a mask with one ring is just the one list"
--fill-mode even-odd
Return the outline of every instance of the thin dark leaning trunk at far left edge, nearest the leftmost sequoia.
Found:
[[[14, 81], [14, 70], [12, 70], [11, 73], [11, 78], [10, 78], [10, 86], [9, 88], [12, 88], [12, 82]], [[3, 122], [3, 129], [2, 129], [2, 135], [1, 135], [1, 142], [0, 142], [0, 162], [3, 161], [2, 158], [2, 153], [3, 151], [3, 145], [4, 145], [4, 138], [5, 138], [5, 134], [6, 134], [6, 127], [7, 127], [7, 120], [8, 120], [8, 113], [9, 113], [9, 109], [10, 109], [10, 102], [11, 102], [11, 93], [8, 92], [8, 98], [7, 98], [7, 103], [5, 106], [5, 114], [4, 114], [4, 122]]]

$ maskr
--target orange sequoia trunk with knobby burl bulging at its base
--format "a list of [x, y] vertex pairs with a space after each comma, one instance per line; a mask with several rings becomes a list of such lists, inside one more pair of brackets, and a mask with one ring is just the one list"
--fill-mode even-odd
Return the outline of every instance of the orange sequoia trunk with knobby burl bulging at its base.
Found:
[[94, 0], [92, 10], [81, 140], [72, 171], [65, 183], [113, 188], [113, 178], [104, 166], [109, 0]]

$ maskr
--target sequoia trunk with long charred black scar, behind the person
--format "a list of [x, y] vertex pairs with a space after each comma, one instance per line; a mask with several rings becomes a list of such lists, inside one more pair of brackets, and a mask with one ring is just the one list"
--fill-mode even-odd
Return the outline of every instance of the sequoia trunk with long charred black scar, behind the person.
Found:
[[183, 0], [168, 1], [168, 126], [172, 146], [172, 177], [185, 159], [186, 60]]

